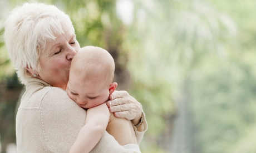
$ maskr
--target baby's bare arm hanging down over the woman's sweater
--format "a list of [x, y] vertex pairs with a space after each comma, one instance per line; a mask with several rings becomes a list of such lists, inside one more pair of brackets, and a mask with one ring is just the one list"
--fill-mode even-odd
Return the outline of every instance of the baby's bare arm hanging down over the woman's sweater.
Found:
[[106, 103], [88, 109], [86, 124], [80, 130], [70, 152], [90, 152], [106, 131], [109, 115]]

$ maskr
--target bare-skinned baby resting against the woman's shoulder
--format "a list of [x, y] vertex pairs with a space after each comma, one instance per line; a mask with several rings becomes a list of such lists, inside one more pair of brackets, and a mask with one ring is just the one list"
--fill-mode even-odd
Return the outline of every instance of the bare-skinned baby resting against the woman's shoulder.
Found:
[[126, 149], [140, 152], [131, 121], [116, 118], [106, 105], [117, 86], [112, 82], [114, 72], [114, 59], [100, 47], [83, 47], [72, 59], [67, 94], [87, 110], [87, 116], [70, 152], [90, 152], [105, 130]]

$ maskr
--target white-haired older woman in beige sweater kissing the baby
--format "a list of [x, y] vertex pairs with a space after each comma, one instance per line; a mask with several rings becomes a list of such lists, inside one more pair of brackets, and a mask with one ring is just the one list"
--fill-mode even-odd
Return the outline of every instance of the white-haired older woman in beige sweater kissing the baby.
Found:
[[[86, 111], [66, 93], [71, 60], [80, 49], [67, 14], [55, 6], [24, 3], [7, 17], [4, 39], [26, 91], [17, 118], [17, 152], [68, 152], [85, 124]], [[144, 113], [126, 91], [107, 102], [110, 113], [134, 125], [140, 142], [147, 129]], [[105, 132], [91, 152], [131, 152]]]

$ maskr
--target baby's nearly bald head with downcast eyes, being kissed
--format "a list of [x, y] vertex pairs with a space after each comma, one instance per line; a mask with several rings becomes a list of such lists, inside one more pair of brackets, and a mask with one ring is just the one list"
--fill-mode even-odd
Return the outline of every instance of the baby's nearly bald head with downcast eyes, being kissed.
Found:
[[114, 72], [115, 62], [107, 50], [83, 47], [72, 59], [67, 94], [85, 109], [101, 105], [116, 89]]

